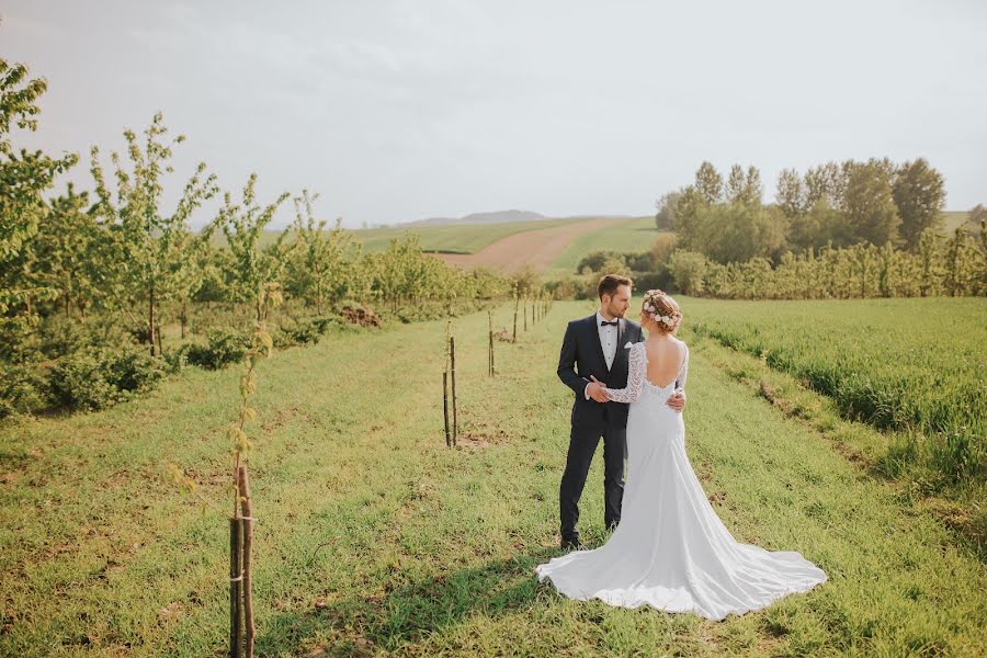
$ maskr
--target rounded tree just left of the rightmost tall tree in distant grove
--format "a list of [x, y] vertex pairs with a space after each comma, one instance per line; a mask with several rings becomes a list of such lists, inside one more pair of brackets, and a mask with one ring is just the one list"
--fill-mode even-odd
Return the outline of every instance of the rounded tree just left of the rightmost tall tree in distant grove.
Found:
[[901, 218], [892, 196], [892, 172], [887, 163], [871, 159], [850, 167], [844, 206], [859, 239], [872, 245], [900, 243]]

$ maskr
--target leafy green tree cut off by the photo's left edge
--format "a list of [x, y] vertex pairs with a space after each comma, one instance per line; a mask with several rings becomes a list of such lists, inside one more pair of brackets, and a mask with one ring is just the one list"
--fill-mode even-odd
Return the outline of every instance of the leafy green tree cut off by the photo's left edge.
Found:
[[34, 299], [55, 294], [36, 285], [27, 245], [46, 212], [42, 193], [55, 177], [78, 161], [78, 156], [56, 159], [24, 149], [15, 154], [10, 141], [11, 126], [37, 129], [37, 100], [46, 89], [43, 78], [27, 78], [27, 67], [0, 58], [0, 316], [23, 311], [31, 317]]

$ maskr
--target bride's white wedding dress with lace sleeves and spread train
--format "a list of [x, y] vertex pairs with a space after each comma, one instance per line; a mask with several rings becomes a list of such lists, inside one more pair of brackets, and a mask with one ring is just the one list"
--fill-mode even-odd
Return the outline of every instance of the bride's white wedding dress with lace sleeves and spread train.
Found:
[[[684, 386], [689, 349], [679, 376]], [[706, 619], [759, 610], [826, 580], [794, 552], [740, 544], [716, 515], [685, 455], [682, 415], [666, 405], [676, 381], [647, 381], [645, 343], [631, 345], [627, 387], [606, 392], [629, 402], [628, 474], [621, 522], [594, 551], [576, 551], [536, 568], [559, 592], [611, 605], [650, 605]]]

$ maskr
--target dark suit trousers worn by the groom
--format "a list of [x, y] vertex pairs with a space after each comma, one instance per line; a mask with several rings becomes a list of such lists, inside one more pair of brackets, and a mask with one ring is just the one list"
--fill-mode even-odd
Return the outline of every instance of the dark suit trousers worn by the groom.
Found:
[[593, 454], [603, 438], [603, 494], [606, 527], [621, 522], [621, 500], [624, 497], [624, 458], [627, 455], [627, 430], [609, 427], [585, 428], [572, 426], [569, 433], [569, 452], [566, 472], [558, 490], [559, 519], [563, 541], [576, 540], [579, 531], [579, 498], [586, 486]]

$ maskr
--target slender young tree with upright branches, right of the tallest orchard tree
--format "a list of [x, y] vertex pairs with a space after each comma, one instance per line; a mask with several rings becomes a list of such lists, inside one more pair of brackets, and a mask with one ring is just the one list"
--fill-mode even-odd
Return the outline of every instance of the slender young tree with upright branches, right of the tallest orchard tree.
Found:
[[242, 203], [235, 204], [229, 192], [223, 195], [223, 207], [215, 225], [223, 229], [229, 245], [230, 259], [227, 262], [227, 281], [236, 302], [253, 307], [258, 321], [263, 321], [263, 299], [268, 284], [280, 283], [281, 250], [285, 235], [283, 231], [273, 246], [260, 248], [264, 227], [274, 218], [274, 213], [288, 198], [283, 192], [263, 208], [257, 204], [257, 173], [251, 173], [243, 185]]

